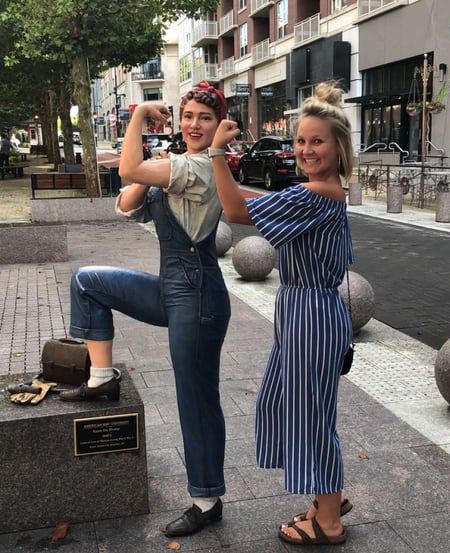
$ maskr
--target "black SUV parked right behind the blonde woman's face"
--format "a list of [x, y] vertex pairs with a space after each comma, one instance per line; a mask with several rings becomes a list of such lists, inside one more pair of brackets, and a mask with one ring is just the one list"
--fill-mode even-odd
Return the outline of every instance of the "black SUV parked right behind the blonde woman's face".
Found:
[[267, 190], [285, 188], [308, 179], [295, 174], [293, 140], [264, 136], [239, 159], [239, 182], [261, 184]]

